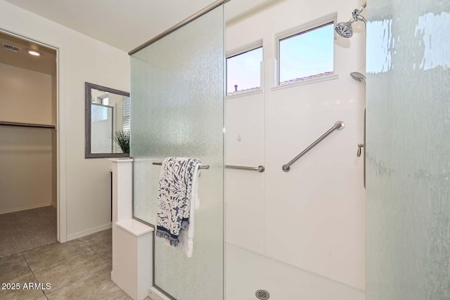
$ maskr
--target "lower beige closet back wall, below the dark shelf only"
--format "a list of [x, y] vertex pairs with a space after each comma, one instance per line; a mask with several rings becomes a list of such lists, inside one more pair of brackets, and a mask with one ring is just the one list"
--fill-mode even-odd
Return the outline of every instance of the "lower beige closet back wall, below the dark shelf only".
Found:
[[51, 204], [52, 130], [0, 126], [0, 214]]

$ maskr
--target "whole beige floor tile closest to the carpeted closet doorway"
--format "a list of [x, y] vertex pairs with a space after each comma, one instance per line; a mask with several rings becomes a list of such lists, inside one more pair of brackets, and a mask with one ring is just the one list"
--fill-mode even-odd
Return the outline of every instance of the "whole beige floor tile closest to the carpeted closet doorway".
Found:
[[89, 250], [89, 247], [83, 242], [73, 240], [63, 244], [56, 242], [37, 249], [32, 249], [23, 252], [23, 256], [30, 265], [30, 268], [35, 271]]

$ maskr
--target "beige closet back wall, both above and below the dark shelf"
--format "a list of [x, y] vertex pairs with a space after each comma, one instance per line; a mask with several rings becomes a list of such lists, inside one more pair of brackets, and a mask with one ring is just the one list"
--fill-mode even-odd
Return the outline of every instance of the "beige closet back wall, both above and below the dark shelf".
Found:
[[[52, 76], [0, 63], [0, 120], [52, 124]], [[52, 129], [0, 126], [0, 214], [53, 200]]]

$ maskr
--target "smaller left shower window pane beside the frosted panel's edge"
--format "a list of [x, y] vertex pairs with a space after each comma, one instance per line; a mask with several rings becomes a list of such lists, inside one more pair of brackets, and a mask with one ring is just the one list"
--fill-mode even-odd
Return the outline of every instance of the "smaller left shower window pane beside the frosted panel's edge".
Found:
[[226, 59], [226, 94], [254, 91], [261, 86], [262, 47]]

